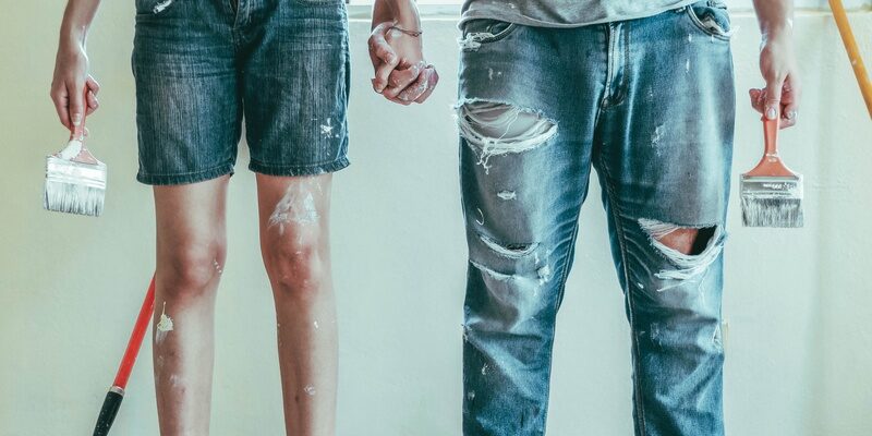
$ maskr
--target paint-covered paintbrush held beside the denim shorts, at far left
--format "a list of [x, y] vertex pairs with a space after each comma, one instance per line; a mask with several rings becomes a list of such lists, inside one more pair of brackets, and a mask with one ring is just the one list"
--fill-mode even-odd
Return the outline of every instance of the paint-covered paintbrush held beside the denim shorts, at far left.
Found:
[[[85, 89], [87, 101], [87, 88]], [[98, 217], [106, 198], [106, 164], [85, 147], [85, 114], [62, 150], [46, 158], [46, 210]]]

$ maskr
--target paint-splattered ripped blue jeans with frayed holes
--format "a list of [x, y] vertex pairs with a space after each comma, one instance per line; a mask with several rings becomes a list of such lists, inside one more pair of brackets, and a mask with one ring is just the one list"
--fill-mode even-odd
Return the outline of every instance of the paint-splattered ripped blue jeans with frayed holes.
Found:
[[726, 10], [463, 31], [463, 434], [545, 433], [555, 317], [593, 168], [632, 332], [635, 434], [723, 435]]

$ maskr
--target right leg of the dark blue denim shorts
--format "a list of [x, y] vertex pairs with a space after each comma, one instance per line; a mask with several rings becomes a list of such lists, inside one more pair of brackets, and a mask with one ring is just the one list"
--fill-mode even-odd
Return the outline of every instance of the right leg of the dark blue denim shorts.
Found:
[[264, 7], [245, 48], [250, 168], [313, 175], [348, 166], [350, 58], [341, 0]]

